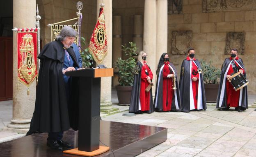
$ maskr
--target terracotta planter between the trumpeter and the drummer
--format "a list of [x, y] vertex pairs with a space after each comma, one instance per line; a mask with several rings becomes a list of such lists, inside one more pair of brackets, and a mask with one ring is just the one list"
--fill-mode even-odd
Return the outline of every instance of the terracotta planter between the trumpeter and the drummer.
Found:
[[204, 84], [206, 102], [215, 103], [217, 101], [219, 84]]

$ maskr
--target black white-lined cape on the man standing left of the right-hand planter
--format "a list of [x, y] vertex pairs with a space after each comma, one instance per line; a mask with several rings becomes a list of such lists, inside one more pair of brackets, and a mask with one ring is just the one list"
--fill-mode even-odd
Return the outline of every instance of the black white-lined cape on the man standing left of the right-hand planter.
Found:
[[[197, 64], [198, 68], [201, 68], [201, 64], [198, 60], [194, 60]], [[202, 106], [204, 110], [206, 110], [206, 97], [204, 92], [204, 84], [203, 84], [203, 75], [200, 75], [200, 82], [201, 82], [201, 95], [202, 95]], [[190, 74], [190, 60], [183, 60], [181, 64], [181, 76], [180, 76], [180, 94], [181, 94], [181, 106], [183, 112], [190, 111], [190, 96], [193, 93], [190, 93], [190, 81], [191, 81], [191, 74]], [[199, 90], [199, 89], [198, 89]]]

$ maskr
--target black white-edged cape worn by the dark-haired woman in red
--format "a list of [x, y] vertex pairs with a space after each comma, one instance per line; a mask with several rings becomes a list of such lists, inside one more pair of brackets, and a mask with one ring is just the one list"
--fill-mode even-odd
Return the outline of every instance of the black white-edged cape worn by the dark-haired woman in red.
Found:
[[[175, 78], [177, 79], [177, 73], [174, 65], [172, 63], [169, 63], [169, 65], [174, 69], [175, 71]], [[161, 66], [163, 67], [163, 65]], [[162, 112], [162, 93], [163, 93], [163, 75], [162, 75], [162, 70], [163, 68], [159, 69], [159, 74], [157, 76], [156, 80], [156, 88], [155, 88], [155, 100], [154, 100], [154, 107], [155, 111]], [[180, 97], [180, 88], [178, 86], [178, 81], [176, 81], [176, 94], [174, 93], [174, 97], [172, 97], [172, 103], [171, 103], [171, 111], [181, 111], [181, 97]], [[176, 102], [175, 102], [176, 101]], [[178, 106], [178, 108], [176, 107]]]

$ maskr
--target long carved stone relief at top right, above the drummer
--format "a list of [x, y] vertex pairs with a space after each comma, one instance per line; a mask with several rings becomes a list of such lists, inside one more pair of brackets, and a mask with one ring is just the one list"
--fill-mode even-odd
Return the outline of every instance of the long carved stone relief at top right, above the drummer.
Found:
[[256, 0], [203, 0], [203, 12], [254, 10]]

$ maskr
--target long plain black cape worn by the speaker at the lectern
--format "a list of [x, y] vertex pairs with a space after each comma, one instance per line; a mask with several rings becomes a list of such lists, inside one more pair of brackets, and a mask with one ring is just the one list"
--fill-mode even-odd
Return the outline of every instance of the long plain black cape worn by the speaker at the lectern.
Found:
[[[72, 48], [67, 49], [74, 61], [78, 62]], [[68, 130], [69, 111], [62, 74], [65, 50], [59, 41], [46, 44], [38, 58], [40, 59], [39, 78], [33, 117], [30, 123], [32, 133], [49, 133]]]

